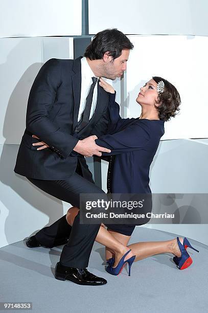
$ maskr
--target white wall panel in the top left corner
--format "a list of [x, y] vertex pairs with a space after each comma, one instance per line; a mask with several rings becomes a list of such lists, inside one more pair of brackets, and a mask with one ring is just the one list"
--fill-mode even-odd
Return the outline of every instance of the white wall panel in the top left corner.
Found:
[[0, 37], [68, 36], [81, 33], [81, 0], [1, 1]]

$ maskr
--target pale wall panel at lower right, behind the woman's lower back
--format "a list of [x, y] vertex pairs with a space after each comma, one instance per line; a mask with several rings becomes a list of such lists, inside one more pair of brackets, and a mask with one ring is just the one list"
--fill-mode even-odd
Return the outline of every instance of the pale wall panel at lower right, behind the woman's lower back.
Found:
[[[208, 139], [160, 142], [150, 169], [153, 193], [208, 193]], [[177, 200], [176, 200], [177, 203]], [[188, 210], [187, 208], [185, 211]], [[175, 211], [174, 203], [172, 205]], [[177, 210], [176, 210], [177, 211]], [[181, 209], [183, 215], [184, 209]], [[193, 216], [201, 215], [200, 205], [192, 203]], [[193, 217], [192, 217], [193, 218]], [[203, 220], [202, 220], [203, 222]], [[208, 245], [207, 224], [147, 224], [149, 228], [187, 236]]]

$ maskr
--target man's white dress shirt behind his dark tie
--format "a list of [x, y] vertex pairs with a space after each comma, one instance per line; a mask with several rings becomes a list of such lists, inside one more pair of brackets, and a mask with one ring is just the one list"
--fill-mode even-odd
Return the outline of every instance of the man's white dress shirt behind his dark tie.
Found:
[[[81, 58], [81, 97], [80, 97], [80, 106], [79, 106], [79, 114], [77, 121], [81, 119], [81, 115], [84, 111], [85, 104], [86, 104], [86, 98], [89, 93], [89, 89], [91, 84], [93, 83], [92, 77], [96, 77], [93, 71], [90, 69], [90, 66], [87, 62], [87, 59], [85, 57]], [[99, 79], [99, 77], [97, 77]], [[96, 103], [98, 98], [98, 81], [95, 85], [94, 92], [93, 92], [93, 102], [91, 104], [91, 110], [89, 114], [89, 119], [93, 116], [95, 109], [96, 109]]]

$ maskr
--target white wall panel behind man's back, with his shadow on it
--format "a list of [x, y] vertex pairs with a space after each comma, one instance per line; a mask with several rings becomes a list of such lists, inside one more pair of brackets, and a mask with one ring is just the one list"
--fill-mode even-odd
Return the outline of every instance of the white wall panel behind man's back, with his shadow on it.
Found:
[[73, 59], [73, 38], [1, 38], [0, 51], [0, 143], [19, 144], [39, 69], [50, 58]]

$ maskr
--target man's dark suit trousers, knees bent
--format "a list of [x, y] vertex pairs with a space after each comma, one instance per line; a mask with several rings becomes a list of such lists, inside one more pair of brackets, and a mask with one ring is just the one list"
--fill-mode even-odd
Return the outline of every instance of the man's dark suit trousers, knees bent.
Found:
[[[41, 190], [54, 197], [80, 207], [80, 193], [105, 192], [97, 187], [94, 182], [86, 180], [78, 173], [73, 174], [67, 180], [43, 181], [27, 177], [28, 180]], [[61, 237], [69, 236], [64, 245], [60, 263], [65, 266], [85, 268], [88, 266], [89, 256], [100, 224], [80, 224], [80, 214], [75, 217], [73, 227], [67, 225], [66, 215], [53, 223], [50, 227], [43, 228], [35, 236], [37, 240], [47, 247], [53, 247], [54, 241]]]

